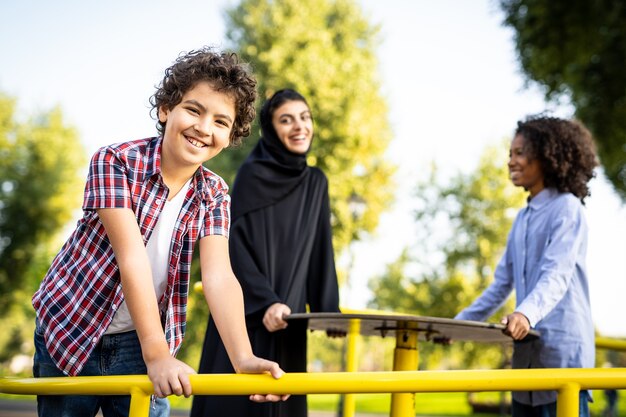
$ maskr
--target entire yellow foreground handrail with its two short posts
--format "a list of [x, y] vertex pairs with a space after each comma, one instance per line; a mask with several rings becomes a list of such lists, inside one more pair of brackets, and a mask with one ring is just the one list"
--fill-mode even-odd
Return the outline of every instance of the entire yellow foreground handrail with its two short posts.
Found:
[[[516, 390], [558, 391], [557, 416], [578, 415], [581, 389], [626, 389], [626, 368], [497, 369], [462, 371], [212, 374], [190, 377], [196, 395], [417, 393]], [[131, 417], [148, 415], [152, 384], [145, 375], [0, 378], [5, 394], [131, 394]]]

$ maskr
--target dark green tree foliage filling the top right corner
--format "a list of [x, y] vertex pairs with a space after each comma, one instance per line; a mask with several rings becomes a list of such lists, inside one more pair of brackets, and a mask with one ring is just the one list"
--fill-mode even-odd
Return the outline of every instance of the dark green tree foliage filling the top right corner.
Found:
[[608, 179], [626, 201], [626, 4], [500, 0], [523, 72], [549, 100], [565, 97], [592, 131]]

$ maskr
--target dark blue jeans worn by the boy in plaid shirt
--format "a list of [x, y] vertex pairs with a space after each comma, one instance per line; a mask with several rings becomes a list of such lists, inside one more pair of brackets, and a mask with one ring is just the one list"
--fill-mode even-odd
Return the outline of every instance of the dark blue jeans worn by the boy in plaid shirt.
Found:
[[[79, 376], [145, 375], [146, 365], [136, 332], [105, 335], [91, 353]], [[39, 326], [35, 329], [35, 360], [33, 375], [39, 377], [65, 376], [50, 357]], [[38, 395], [37, 413], [43, 417], [95, 416], [102, 410], [104, 417], [127, 417], [130, 395]], [[169, 415], [167, 398], [151, 402], [150, 417]]]

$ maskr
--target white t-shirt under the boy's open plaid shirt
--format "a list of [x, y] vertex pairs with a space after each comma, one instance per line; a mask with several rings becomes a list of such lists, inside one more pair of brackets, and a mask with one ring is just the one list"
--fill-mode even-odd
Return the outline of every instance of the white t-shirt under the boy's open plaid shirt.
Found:
[[[172, 235], [174, 234], [174, 226], [176, 226], [180, 209], [183, 207], [190, 182], [191, 179], [183, 185], [174, 198], [165, 202], [163, 211], [159, 215], [159, 219], [146, 244], [157, 300], [161, 299], [167, 288], [167, 271], [170, 262]], [[135, 330], [135, 324], [130, 317], [126, 301], [123, 301], [104, 334], [123, 333], [131, 330]]]

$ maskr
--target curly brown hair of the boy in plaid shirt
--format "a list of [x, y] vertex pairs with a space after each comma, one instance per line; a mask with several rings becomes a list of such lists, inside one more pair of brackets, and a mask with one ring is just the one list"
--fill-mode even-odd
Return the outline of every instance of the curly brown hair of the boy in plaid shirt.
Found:
[[[163, 80], [150, 97], [151, 114], [158, 115], [159, 108], [173, 109], [186, 92], [199, 82], [206, 81], [235, 101], [235, 121], [230, 134], [230, 145], [241, 144], [250, 135], [250, 125], [256, 116], [256, 79], [247, 64], [233, 52], [215, 52], [211, 47], [181, 53], [174, 64], [165, 70]], [[158, 117], [157, 130], [165, 132], [165, 122]]]

